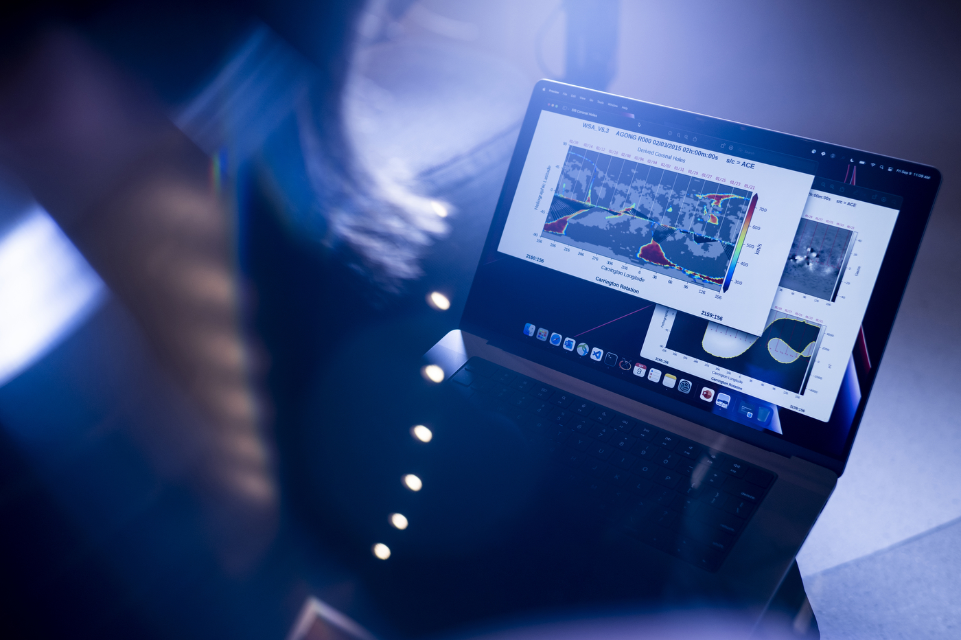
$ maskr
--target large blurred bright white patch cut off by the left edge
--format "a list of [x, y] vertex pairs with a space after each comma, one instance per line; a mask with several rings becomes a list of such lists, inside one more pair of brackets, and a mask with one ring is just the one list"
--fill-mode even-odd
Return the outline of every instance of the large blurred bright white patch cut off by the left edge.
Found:
[[55, 347], [106, 294], [47, 212], [26, 213], [0, 238], [0, 384]]

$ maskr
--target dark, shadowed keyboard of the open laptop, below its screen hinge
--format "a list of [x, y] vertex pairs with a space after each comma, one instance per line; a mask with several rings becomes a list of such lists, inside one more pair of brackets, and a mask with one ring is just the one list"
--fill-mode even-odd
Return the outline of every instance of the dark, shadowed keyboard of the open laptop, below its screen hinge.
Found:
[[720, 568], [776, 478], [480, 357], [451, 381], [513, 420], [569, 488], [628, 534], [707, 571]]

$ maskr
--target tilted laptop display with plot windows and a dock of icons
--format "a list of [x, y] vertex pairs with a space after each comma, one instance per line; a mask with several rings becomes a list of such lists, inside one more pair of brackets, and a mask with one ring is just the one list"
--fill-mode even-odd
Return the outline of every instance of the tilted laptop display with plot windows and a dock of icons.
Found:
[[840, 470], [939, 183], [911, 162], [542, 81], [463, 323]]

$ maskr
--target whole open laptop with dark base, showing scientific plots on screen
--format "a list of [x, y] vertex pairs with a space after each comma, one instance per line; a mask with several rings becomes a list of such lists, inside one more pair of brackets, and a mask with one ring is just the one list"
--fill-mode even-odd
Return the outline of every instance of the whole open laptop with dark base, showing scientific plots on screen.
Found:
[[[760, 616], [844, 472], [940, 182], [538, 82], [459, 328], [421, 363], [462, 421], [411, 431], [427, 444], [407, 516], [431, 487], [448, 506], [389, 539], [383, 523], [383, 614], [413, 634], [651, 606]], [[480, 462], [461, 454], [475, 471], [457, 477], [436, 443], [468, 430]], [[468, 486], [519, 469], [497, 500]], [[457, 509], [500, 518], [450, 529], [496, 538], [486, 555], [453, 533], [414, 542], [418, 517], [442, 528]]]

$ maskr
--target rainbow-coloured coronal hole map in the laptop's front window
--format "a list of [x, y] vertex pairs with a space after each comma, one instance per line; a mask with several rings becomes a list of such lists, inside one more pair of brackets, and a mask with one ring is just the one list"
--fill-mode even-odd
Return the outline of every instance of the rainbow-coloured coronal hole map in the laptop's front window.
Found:
[[721, 290], [752, 192], [571, 147], [541, 235]]

